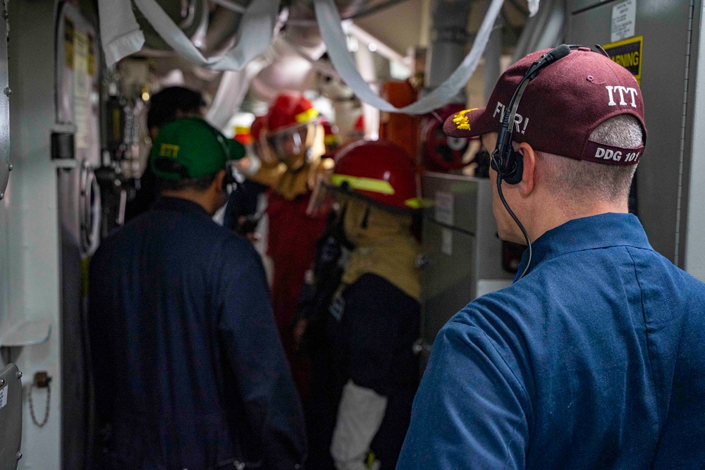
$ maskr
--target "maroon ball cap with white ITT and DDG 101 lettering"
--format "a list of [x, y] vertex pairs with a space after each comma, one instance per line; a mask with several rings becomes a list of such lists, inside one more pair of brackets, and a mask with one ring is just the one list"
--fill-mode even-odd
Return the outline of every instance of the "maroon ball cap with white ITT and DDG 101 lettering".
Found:
[[[451, 137], [498, 132], [517, 85], [529, 66], [548, 51], [529, 54], [508, 68], [492, 90], [486, 108], [450, 116], [443, 131]], [[642, 145], [625, 149], [589, 142], [597, 126], [618, 114], [631, 114], [639, 120], [644, 131]], [[576, 160], [636, 164], [646, 144], [642, 91], [634, 75], [610, 58], [587, 47], [571, 50], [529, 82], [517, 109], [512, 140]]]

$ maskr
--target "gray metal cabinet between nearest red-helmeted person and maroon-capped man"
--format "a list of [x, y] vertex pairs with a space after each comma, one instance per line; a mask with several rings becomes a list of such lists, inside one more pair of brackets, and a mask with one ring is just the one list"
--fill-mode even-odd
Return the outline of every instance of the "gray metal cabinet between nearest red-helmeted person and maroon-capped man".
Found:
[[425, 173], [422, 187], [435, 202], [424, 213], [422, 268], [421, 333], [431, 345], [451, 316], [514, 276], [501, 266], [489, 180]]

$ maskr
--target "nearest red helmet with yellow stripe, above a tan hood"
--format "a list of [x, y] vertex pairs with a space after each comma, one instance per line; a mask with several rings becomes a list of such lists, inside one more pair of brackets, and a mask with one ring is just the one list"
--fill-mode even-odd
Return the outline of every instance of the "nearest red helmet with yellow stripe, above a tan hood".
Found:
[[331, 183], [398, 209], [418, 209], [414, 165], [404, 149], [381, 140], [356, 140], [336, 154]]

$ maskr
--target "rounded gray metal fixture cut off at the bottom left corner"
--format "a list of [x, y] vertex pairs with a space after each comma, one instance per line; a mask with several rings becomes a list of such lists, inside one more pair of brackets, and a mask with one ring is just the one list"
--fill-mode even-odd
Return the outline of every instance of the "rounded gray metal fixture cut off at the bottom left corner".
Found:
[[0, 470], [14, 470], [22, 454], [22, 374], [15, 364], [0, 370]]

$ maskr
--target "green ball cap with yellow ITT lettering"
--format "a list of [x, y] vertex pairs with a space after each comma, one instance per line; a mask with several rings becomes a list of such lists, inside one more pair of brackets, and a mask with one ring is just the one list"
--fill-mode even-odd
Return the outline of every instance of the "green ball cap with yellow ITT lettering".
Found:
[[212, 175], [245, 156], [245, 146], [228, 139], [201, 118], [166, 123], [152, 142], [149, 166], [163, 180]]

